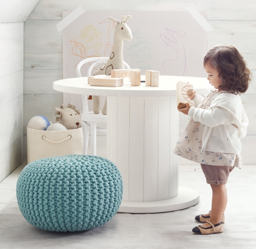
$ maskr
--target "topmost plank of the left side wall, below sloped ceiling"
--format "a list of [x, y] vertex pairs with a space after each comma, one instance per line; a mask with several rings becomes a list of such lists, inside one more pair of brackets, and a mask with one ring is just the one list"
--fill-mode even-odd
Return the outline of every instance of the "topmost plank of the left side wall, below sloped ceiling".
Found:
[[[1, 4], [0, 4], [1, 5]], [[3, 14], [2, 12], [1, 14]], [[1, 15], [0, 15], [1, 19]], [[0, 59], [23, 53], [24, 25], [20, 23], [0, 23]]]

